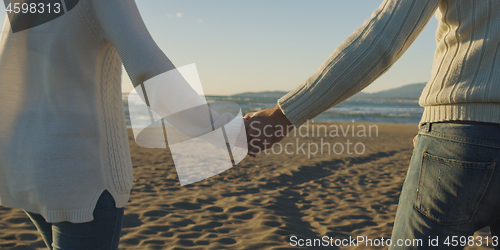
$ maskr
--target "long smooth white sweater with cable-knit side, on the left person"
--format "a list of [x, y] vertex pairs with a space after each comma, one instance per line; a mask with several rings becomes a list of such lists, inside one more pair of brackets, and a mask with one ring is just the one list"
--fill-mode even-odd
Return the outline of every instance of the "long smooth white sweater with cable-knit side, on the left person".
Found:
[[132, 162], [121, 63], [134, 85], [173, 69], [133, 0], [80, 0], [0, 40], [0, 204], [87, 222], [104, 190], [123, 207]]

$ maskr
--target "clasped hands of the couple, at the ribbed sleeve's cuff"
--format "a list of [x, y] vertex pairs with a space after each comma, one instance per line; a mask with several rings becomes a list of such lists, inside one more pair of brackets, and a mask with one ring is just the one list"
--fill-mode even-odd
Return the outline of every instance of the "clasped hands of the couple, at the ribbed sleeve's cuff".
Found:
[[245, 115], [248, 155], [255, 157], [280, 142], [294, 126], [278, 105]]

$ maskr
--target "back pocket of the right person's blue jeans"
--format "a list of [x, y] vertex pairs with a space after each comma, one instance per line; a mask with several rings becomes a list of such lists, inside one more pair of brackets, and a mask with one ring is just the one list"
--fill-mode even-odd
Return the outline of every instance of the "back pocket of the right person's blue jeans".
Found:
[[423, 154], [415, 209], [439, 224], [472, 221], [494, 162], [468, 162]]

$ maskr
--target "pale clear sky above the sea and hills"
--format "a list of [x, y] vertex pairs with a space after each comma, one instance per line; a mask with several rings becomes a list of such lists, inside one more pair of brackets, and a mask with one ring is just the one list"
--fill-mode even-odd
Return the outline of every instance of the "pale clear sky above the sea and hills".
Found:
[[[205, 94], [288, 91], [303, 83], [382, 0], [136, 0], [151, 35], [180, 67], [195, 63]], [[2, 11], [0, 18], [4, 18]], [[365, 92], [426, 82], [432, 18]], [[123, 75], [123, 92], [132, 84]]]

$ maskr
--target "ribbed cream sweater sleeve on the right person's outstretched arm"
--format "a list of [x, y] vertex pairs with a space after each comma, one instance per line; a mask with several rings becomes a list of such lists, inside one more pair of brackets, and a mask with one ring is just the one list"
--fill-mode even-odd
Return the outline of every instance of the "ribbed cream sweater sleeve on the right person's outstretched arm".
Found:
[[301, 86], [278, 100], [296, 126], [361, 91], [401, 57], [439, 0], [385, 0]]

